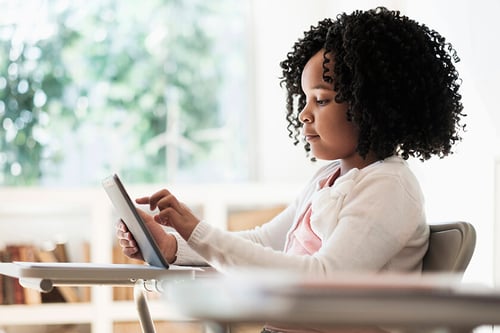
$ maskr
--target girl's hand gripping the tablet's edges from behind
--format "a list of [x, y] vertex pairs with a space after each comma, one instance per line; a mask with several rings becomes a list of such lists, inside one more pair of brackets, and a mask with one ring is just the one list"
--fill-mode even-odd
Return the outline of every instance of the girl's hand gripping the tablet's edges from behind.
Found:
[[[167, 233], [160, 225], [155, 223], [151, 215], [141, 209], [137, 209], [137, 211], [145, 222], [146, 227], [151, 232], [151, 235], [158, 244], [158, 247], [167, 262], [170, 264], [173, 263], [177, 253], [177, 239], [173, 235]], [[142, 256], [134, 236], [132, 236], [132, 233], [128, 230], [123, 221], [119, 221], [116, 224], [116, 237], [118, 238], [118, 244], [122, 248], [124, 255], [132, 259], [144, 261], [144, 257]]]

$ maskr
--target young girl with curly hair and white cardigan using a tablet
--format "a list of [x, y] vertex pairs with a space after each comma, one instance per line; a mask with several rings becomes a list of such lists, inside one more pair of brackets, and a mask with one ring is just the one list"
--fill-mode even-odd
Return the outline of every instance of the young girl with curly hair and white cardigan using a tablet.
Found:
[[[281, 214], [249, 231], [201, 221], [166, 189], [137, 199], [159, 209], [143, 217], [164, 256], [221, 271], [259, 267], [325, 278], [420, 271], [429, 229], [405, 160], [444, 157], [460, 140], [456, 61], [439, 33], [385, 8], [311, 27], [281, 63], [281, 83], [289, 136], [295, 144], [304, 138], [308, 154], [331, 163]], [[124, 254], [141, 258], [123, 223], [117, 236]]]

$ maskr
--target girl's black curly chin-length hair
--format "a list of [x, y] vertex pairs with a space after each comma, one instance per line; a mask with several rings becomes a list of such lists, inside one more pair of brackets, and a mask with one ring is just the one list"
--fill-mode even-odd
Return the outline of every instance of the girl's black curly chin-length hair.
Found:
[[[394, 154], [422, 161], [451, 153], [461, 124], [460, 61], [438, 32], [398, 11], [378, 7], [324, 19], [311, 26], [284, 61], [281, 86], [287, 92], [289, 137], [300, 139], [299, 113], [305, 106], [301, 75], [308, 60], [324, 49], [323, 79], [333, 84], [347, 119], [359, 129], [357, 151], [384, 159]], [[329, 73], [326, 54], [332, 55]], [[310, 147], [304, 144], [309, 154]]]

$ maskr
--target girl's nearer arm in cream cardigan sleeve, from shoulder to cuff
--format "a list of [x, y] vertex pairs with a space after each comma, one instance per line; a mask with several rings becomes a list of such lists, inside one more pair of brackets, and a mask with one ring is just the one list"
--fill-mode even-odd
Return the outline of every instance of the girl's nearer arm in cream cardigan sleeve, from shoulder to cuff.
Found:
[[428, 228], [416, 181], [375, 174], [357, 179], [345, 193], [336, 189], [325, 189], [324, 197], [314, 199], [324, 200], [319, 215], [312, 217], [323, 245], [312, 256], [261, 246], [206, 222], [197, 225], [188, 244], [219, 270], [259, 267], [330, 276], [338, 271], [420, 268]]

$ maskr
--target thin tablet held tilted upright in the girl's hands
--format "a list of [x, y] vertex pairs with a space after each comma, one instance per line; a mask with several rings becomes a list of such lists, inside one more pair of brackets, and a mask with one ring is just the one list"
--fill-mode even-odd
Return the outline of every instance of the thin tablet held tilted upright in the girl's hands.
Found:
[[134, 236], [144, 260], [151, 266], [168, 268], [168, 262], [162, 256], [160, 248], [130, 200], [130, 196], [118, 175], [106, 177], [102, 181], [102, 186], [111, 199], [118, 217], [122, 219]]

